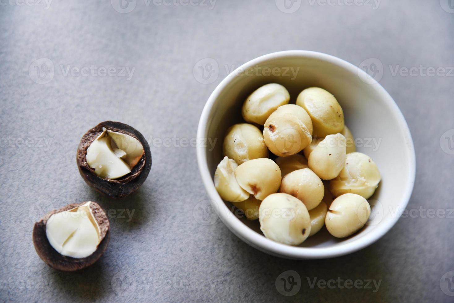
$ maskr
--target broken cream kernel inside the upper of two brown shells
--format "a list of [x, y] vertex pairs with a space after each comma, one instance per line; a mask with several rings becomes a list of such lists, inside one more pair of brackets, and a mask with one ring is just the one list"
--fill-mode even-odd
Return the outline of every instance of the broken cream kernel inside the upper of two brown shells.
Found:
[[136, 138], [104, 128], [87, 149], [87, 163], [97, 176], [114, 180], [130, 173], [143, 154]]

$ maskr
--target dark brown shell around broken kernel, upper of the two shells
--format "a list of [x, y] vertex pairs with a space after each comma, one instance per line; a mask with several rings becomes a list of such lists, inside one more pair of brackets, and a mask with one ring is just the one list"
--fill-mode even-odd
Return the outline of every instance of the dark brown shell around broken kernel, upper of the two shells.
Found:
[[[104, 131], [103, 128], [108, 131], [120, 132], [134, 137], [143, 146], [144, 154], [138, 163], [131, 169], [131, 172], [115, 180], [103, 179], [97, 176], [94, 173], [94, 169], [87, 163], [87, 149]], [[134, 191], [137, 191], [137, 189], [147, 179], [148, 173], [151, 169], [151, 152], [147, 140], [145, 140], [142, 134], [135, 128], [127, 124], [114, 121], [101, 122], [84, 134], [77, 149], [76, 160], [80, 176], [84, 178], [85, 182], [95, 190], [115, 199], [124, 198]]]

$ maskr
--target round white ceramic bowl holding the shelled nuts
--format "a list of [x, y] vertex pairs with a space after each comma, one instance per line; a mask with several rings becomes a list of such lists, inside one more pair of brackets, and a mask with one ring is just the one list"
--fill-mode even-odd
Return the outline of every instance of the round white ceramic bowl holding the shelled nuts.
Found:
[[[267, 75], [267, 69], [263, 68], [271, 71], [275, 68], [274, 75]], [[288, 68], [293, 68], [294, 72], [299, 68], [296, 78]], [[355, 138], [363, 140], [357, 142], [358, 152], [371, 156], [382, 175], [379, 188], [369, 200], [373, 210], [370, 222], [360, 232], [346, 239], [336, 239], [323, 228], [300, 246], [280, 244], [263, 236], [258, 220], [251, 222], [233, 215], [231, 203], [224, 202], [217, 194], [213, 176], [222, 160], [222, 141], [227, 127], [242, 121], [241, 106], [245, 98], [266, 83], [284, 85], [290, 92], [290, 103], [296, 102], [304, 88], [317, 86], [334, 94], [341, 104], [345, 124]], [[264, 55], [237, 68], [217, 86], [203, 109], [197, 139], [204, 138], [217, 138], [211, 151], [209, 147], [197, 147], [197, 161], [219, 217], [247, 244], [287, 259], [331, 258], [372, 244], [397, 222], [413, 190], [415, 150], [410, 130], [394, 100], [363, 70], [327, 54], [284, 51]], [[369, 142], [369, 138], [375, 139], [375, 143]]]

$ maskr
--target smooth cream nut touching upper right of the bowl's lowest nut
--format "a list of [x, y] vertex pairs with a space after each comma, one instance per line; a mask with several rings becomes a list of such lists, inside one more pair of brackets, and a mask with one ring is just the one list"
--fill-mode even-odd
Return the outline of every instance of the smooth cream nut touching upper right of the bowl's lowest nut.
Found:
[[280, 192], [292, 195], [312, 210], [320, 204], [325, 188], [320, 178], [309, 168], [292, 171], [282, 178]]

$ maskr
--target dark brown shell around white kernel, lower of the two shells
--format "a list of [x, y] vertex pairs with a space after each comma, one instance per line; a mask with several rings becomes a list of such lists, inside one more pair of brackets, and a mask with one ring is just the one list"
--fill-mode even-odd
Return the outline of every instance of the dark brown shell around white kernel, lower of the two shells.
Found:
[[33, 244], [35, 245], [36, 253], [39, 255], [44, 263], [50, 267], [62, 271], [74, 271], [83, 269], [94, 264], [99, 258], [104, 254], [104, 251], [107, 249], [107, 244], [109, 244], [110, 239], [110, 223], [107, 215], [104, 210], [95, 203], [90, 203], [90, 210], [92, 211], [96, 222], [98, 223], [100, 230], [101, 242], [98, 244], [98, 248], [93, 254], [90, 254], [85, 258], [72, 258], [59, 254], [52, 245], [50, 245], [49, 240], [46, 235], [46, 224], [51, 215], [57, 214], [62, 211], [70, 210], [81, 205], [84, 205], [87, 202], [82, 203], [73, 203], [60, 208], [59, 210], [52, 210], [44, 217], [35, 223], [33, 228]]

